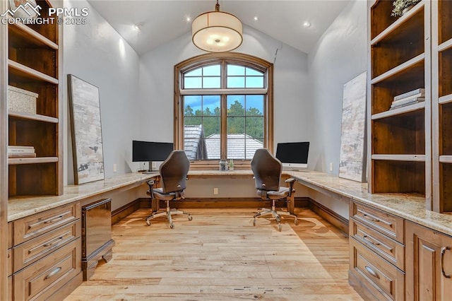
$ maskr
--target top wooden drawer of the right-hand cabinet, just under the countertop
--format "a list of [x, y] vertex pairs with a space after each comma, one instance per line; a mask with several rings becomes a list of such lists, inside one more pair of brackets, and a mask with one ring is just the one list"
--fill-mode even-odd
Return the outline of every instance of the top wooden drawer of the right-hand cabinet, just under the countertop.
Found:
[[350, 202], [350, 206], [350, 218], [359, 220], [401, 244], [405, 243], [403, 218], [355, 202]]

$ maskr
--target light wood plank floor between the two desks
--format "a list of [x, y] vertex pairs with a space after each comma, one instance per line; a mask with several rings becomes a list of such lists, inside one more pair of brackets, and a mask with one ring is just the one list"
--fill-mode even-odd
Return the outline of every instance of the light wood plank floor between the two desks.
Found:
[[113, 226], [113, 259], [71, 300], [362, 300], [348, 284], [348, 239], [309, 209], [299, 224], [255, 208], [191, 209], [174, 229], [141, 209]]

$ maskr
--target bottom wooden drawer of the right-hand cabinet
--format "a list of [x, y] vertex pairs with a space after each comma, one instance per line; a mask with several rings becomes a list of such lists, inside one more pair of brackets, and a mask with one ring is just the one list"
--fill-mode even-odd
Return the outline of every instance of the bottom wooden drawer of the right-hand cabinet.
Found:
[[350, 273], [378, 300], [403, 300], [405, 273], [388, 263], [354, 238], [350, 238]]

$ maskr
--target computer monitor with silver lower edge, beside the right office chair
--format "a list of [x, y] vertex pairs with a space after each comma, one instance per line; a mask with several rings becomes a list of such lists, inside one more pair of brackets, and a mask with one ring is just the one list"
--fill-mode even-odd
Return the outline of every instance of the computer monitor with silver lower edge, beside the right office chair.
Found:
[[308, 167], [309, 142], [278, 143], [276, 158], [283, 163], [283, 168], [297, 170]]

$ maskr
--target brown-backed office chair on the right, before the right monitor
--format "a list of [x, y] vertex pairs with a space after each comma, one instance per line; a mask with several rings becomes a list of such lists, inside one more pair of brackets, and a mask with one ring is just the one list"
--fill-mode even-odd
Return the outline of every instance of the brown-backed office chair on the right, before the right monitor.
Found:
[[251, 160], [251, 170], [253, 170], [254, 179], [258, 196], [264, 201], [272, 201], [271, 209], [262, 208], [260, 212], [254, 215], [253, 225], [256, 225], [256, 218], [261, 216], [273, 216], [278, 222], [278, 230], [281, 231], [281, 216], [292, 216], [295, 218], [295, 225], [298, 224], [298, 217], [295, 213], [286, 211], [276, 211], [275, 201], [294, 201], [295, 189], [293, 188], [295, 179], [287, 179], [285, 182], [289, 187], [280, 187], [281, 172], [283, 165], [280, 160], [275, 158], [266, 148], [259, 148], [254, 153]]

